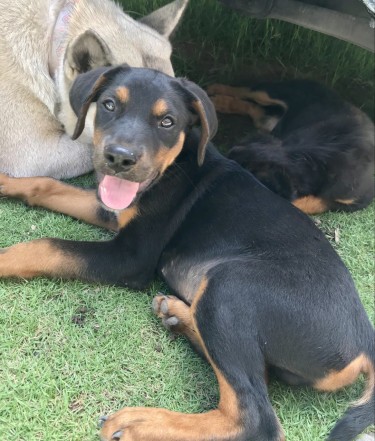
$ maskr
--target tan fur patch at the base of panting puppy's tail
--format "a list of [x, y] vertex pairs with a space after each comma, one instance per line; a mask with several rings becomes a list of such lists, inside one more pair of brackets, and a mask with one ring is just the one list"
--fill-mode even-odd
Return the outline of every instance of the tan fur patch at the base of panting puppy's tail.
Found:
[[341, 371], [332, 371], [326, 377], [318, 380], [314, 388], [321, 391], [333, 392], [354, 383], [361, 372], [367, 373], [374, 382], [374, 368], [368, 357], [360, 354]]

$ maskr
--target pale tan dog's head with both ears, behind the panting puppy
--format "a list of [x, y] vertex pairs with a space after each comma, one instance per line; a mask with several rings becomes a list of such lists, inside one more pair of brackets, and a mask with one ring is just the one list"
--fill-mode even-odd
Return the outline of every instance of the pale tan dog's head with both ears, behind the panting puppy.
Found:
[[[60, 95], [58, 119], [72, 135], [76, 116], [69, 91], [79, 74], [101, 66], [127, 63], [173, 75], [169, 37], [179, 23], [188, 0], [175, 0], [141, 20], [133, 20], [108, 0], [79, 0], [71, 16], [67, 44], [56, 72]], [[87, 116], [80, 140], [89, 143], [94, 113]]]

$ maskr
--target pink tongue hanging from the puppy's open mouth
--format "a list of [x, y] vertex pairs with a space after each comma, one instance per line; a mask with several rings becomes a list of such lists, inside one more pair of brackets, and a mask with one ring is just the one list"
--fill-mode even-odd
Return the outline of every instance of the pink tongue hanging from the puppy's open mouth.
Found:
[[138, 189], [138, 182], [106, 175], [99, 184], [99, 196], [112, 210], [123, 210], [133, 202]]

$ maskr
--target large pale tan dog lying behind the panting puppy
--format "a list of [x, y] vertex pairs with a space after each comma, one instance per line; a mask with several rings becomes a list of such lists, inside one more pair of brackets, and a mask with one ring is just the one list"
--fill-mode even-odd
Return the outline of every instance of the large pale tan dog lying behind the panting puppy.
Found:
[[175, 0], [135, 21], [110, 0], [0, 0], [0, 172], [68, 178], [90, 171], [94, 111], [72, 141], [74, 79], [124, 62], [173, 74], [168, 38], [187, 3]]

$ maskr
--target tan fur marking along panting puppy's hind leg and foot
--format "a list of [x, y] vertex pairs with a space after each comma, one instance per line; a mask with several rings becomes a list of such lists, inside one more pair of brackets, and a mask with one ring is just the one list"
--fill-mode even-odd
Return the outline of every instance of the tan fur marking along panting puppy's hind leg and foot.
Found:
[[[236, 393], [208, 355], [203, 339], [196, 326], [192, 312], [207, 287], [204, 278], [189, 308], [183, 302], [171, 303], [184, 325], [192, 327], [195, 337], [216, 374], [220, 402], [218, 408], [203, 414], [182, 414], [165, 409], [125, 408], [110, 416], [101, 431], [104, 441], [112, 439], [117, 432], [121, 441], [200, 441], [207, 439], [231, 439], [241, 434], [241, 413]], [[178, 304], [182, 303], [181, 304]], [[117, 436], [116, 435], [116, 436]]]

